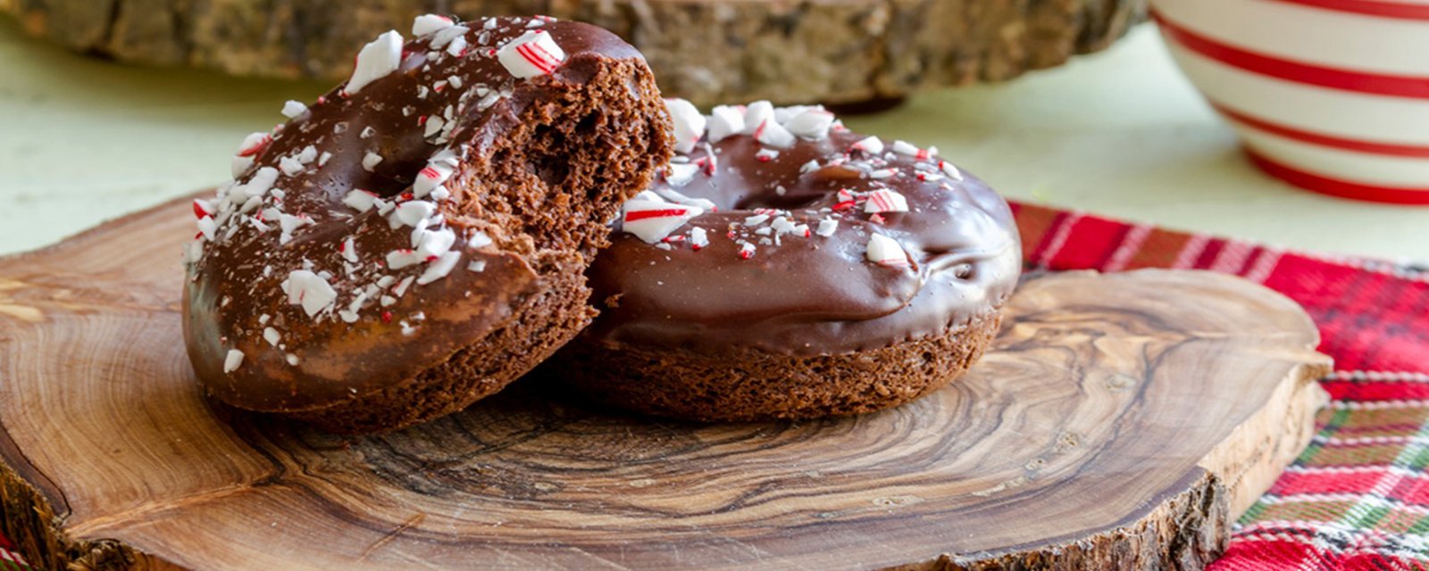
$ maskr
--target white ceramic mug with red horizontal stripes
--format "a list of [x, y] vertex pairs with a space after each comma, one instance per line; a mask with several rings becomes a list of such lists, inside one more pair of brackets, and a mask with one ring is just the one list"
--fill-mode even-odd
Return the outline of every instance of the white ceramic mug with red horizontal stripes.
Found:
[[1429, 204], [1429, 0], [1152, 0], [1182, 71], [1295, 186]]

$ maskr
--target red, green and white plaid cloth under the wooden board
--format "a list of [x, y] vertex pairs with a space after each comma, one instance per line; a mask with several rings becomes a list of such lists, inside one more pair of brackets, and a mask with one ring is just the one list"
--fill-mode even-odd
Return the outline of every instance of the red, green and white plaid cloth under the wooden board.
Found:
[[[1333, 401], [1310, 445], [1236, 524], [1215, 571], [1429, 570], [1429, 271], [1013, 210], [1029, 266], [1236, 274], [1295, 298], [1319, 324], [1320, 351], [1335, 357], [1322, 381]], [[27, 570], [10, 550], [0, 537], [0, 570]]]

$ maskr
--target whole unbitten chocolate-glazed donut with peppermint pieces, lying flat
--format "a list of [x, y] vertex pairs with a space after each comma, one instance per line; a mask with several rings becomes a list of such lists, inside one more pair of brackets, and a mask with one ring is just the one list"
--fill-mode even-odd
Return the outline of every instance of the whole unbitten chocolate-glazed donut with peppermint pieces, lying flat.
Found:
[[980, 357], [1020, 273], [986, 184], [820, 107], [670, 113], [679, 154], [592, 266], [602, 314], [557, 378], [663, 417], [812, 418], [907, 403]]

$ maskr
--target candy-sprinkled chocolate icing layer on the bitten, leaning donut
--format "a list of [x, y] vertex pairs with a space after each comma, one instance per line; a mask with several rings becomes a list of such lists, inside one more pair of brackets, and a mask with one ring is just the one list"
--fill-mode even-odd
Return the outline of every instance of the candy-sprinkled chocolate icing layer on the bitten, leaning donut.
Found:
[[[579, 90], [603, 64], [642, 56], [580, 23], [439, 23], [400, 56], [400, 37], [386, 37], [389, 51], [359, 60], [359, 70], [396, 69], [354, 93], [339, 86], [306, 110], [290, 103], [293, 118], [269, 143], [262, 134], [246, 141], [234, 183], [196, 203], [184, 337], [210, 394], [300, 411], [380, 390], [500, 327], [542, 287], [506, 248], [513, 238], [463, 208], [483, 191], [473, 173], [484, 170], [474, 167], [496, 160], [522, 117]], [[564, 61], [516, 77], [497, 50], [533, 33], [549, 34]], [[414, 196], [430, 167], [452, 174]], [[263, 188], [274, 170], [272, 190]], [[432, 256], [403, 261], [419, 241]]]

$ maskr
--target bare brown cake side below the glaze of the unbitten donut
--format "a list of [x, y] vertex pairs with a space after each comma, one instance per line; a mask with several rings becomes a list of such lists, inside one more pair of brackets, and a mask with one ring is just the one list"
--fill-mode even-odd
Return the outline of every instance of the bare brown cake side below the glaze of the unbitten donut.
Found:
[[802, 420], [873, 413], [947, 385], [997, 334], [997, 311], [940, 335], [832, 355], [572, 344], [543, 380], [650, 415], [694, 421]]

